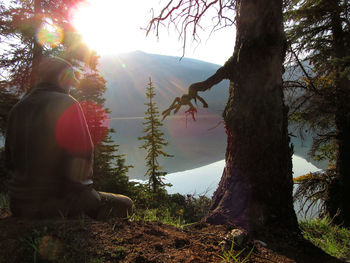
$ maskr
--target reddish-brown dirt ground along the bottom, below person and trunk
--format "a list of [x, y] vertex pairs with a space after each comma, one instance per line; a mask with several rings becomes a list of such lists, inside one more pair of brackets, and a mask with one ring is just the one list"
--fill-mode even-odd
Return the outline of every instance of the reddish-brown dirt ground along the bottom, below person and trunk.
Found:
[[[198, 223], [184, 229], [159, 222], [132, 220], [31, 221], [0, 211], [0, 262], [228, 262], [220, 256], [230, 249], [232, 227]], [[253, 240], [239, 259], [246, 262], [341, 262], [310, 243], [266, 234]], [[283, 240], [283, 241], [282, 241]], [[231, 261], [235, 262], [235, 261]]]

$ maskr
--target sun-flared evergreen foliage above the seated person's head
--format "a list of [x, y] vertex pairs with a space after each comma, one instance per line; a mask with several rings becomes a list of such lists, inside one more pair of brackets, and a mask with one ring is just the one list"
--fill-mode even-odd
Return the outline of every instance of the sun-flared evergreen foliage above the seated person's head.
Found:
[[[35, 67], [44, 54], [82, 60], [88, 50], [70, 25], [77, 0], [12, 0], [0, 5], [1, 88], [18, 94], [35, 84]], [[64, 54], [62, 52], [64, 51]], [[85, 54], [84, 54], [85, 53]]]

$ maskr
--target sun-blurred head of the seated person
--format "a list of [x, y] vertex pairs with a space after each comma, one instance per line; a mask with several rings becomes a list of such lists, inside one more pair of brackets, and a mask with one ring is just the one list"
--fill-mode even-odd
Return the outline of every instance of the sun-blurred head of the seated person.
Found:
[[72, 86], [78, 84], [73, 66], [59, 57], [43, 57], [38, 68], [39, 83], [49, 83], [59, 86], [66, 93]]

